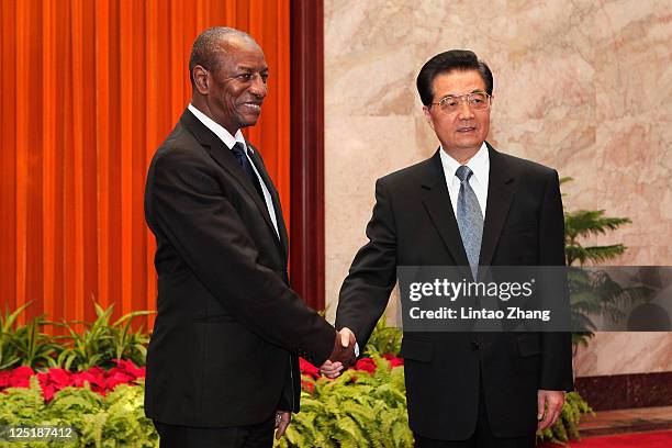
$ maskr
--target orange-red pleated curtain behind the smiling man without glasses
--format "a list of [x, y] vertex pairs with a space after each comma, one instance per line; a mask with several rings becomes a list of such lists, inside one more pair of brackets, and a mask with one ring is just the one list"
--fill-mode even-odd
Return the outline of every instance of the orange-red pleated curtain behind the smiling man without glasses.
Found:
[[269, 96], [247, 137], [289, 216], [289, 0], [0, 3], [0, 300], [10, 309], [34, 301], [29, 316], [91, 321], [93, 300], [116, 315], [155, 307], [145, 173], [189, 101], [190, 46], [209, 26], [246, 31], [265, 51]]

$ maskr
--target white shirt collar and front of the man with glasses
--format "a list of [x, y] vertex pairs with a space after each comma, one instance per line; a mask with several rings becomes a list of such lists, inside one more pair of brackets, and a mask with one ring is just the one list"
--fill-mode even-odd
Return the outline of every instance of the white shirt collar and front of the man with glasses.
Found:
[[[455, 176], [457, 169], [460, 167], [460, 163], [450, 157], [441, 147], [439, 153], [441, 156], [441, 165], [444, 167], [444, 175], [446, 175], [446, 186], [448, 187], [448, 193], [450, 194], [450, 202], [452, 204], [452, 213], [457, 216], [457, 198], [460, 193], [460, 179]], [[485, 143], [481, 145], [477, 154], [469, 159], [467, 166], [473, 175], [469, 178], [469, 184], [477, 195], [483, 219], [485, 219], [485, 204], [488, 203], [488, 180], [490, 176], [490, 155], [488, 154], [488, 146]]]

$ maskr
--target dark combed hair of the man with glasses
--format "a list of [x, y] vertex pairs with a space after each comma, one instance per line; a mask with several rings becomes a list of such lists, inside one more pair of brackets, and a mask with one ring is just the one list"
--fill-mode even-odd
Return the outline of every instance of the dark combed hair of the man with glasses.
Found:
[[475, 53], [468, 49], [450, 49], [439, 53], [427, 60], [419, 74], [417, 74], [415, 83], [423, 104], [429, 105], [432, 104], [432, 100], [434, 100], [434, 92], [432, 91], [434, 78], [440, 74], [447, 74], [453, 70], [478, 71], [485, 83], [485, 92], [492, 94], [493, 79], [492, 71], [490, 71], [488, 64], [479, 59]]

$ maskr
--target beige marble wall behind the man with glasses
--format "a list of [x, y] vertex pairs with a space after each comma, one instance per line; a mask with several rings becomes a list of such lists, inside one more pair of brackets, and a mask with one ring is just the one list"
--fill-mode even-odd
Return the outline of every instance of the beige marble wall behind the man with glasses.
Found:
[[[324, 20], [329, 316], [376, 179], [438, 145], [415, 77], [449, 48], [473, 49], [494, 74], [495, 147], [573, 177], [568, 209], [630, 217], [597, 238], [629, 247], [616, 264], [672, 265], [669, 0], [325, 0]], [[672, 370], [671, 354], [670, 334], [601, 334], [578, 372]]]

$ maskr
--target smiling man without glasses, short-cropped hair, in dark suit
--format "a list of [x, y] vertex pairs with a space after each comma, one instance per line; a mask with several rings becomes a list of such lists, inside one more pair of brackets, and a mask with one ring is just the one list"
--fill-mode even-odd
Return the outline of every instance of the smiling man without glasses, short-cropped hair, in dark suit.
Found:
[[191, 103], [145, 191], [158, 273], [145, 410], [161, 447], [270, 447], [273, 427], [279, 438], [299, 411], [298, 356], [347, 365], [354, 340], [288, 285], [278, 192], [240, 133], [267, 93], [261, 48], [210, 29], [189, 72]]

